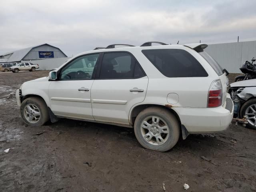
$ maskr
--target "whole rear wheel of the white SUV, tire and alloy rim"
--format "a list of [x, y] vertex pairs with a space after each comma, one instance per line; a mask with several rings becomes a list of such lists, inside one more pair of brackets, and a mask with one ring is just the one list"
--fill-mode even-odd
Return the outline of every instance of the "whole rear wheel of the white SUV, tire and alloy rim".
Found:
[[150, 107], [136, 117], [134, 132], [144, 148], [164, 152], [178, 142], [180, 126], [177, 118], [169, 110]]

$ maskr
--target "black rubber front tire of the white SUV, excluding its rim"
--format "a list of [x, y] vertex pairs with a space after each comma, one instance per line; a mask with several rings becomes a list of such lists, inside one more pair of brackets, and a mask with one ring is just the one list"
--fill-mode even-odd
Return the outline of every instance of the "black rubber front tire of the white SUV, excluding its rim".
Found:
[[[26, 120], [25, 116], [24, 116], [24, 108], [26, 107], [27, 104], [33, 104], [35, 105], [39, 111], [40, 111], [40, 119], [38, 122], [36, 123], [30, 123], [28, 120]], [[26, 98], [21, 106], [20, 106], [20, 114], [22, 116], [22, 120], [30, 126], [41, 126], [43, 124], [45, 124], [48, 120], [49, 120], [49, 113], [48, 113], [48, 108], [46, 103], [44, 102], [44, 100], [42, 100], [41, 98], [38, 97], [29, 97]]]

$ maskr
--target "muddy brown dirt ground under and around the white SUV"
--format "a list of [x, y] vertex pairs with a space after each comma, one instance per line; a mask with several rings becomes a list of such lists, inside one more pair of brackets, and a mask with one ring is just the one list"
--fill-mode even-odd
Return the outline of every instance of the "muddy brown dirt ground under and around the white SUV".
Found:
[[47, 75], [0, 73], [1, 192], [164, 192], [163, 184], [179, 192], [184, 183], [188, 192], [256, 191], [256, 130], [242, 126], [190, 135], [168, 152], [142, 148], [130, 128], [67, 119], [26, 126], [12, 93]]

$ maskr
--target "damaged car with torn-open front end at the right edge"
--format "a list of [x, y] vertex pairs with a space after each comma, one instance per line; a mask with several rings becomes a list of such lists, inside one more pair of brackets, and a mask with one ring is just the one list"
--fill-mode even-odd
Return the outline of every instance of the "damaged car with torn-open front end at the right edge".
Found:
[[234, 82], [228, 92], [234, 102], [234, 117], [246, 117], [247, 126], [256, 129], [256, 79]]

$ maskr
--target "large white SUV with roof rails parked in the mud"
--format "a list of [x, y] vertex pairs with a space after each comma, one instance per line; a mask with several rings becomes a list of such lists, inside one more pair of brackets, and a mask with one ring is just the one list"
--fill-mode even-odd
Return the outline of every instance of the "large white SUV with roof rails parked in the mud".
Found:
[[170, 150], [182, 136], [226, 130], [234, 106], [225, 70], [206, 44], [84, 52], [16, 92], [26, 124], [70, 118], [134, 128], [145, 148]]

